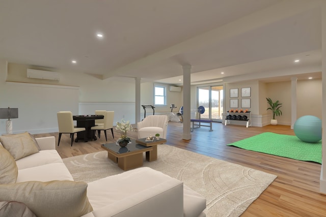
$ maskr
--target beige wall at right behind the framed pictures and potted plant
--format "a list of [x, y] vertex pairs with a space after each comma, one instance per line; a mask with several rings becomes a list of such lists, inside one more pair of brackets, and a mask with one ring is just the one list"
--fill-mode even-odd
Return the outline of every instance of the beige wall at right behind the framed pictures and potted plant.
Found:
[[[321, 79], [297, 81], [297, 118], [304, 115], [314, 115], [321, 119], [322, 88]], [[270, 123], [271, 112], [267, 109], [265, 98], [282, 103], [282, 116], [278, 116], [278, 124], [291, 125], [291, 81], [269, 82], [244, 81], [225, 84], [226, 110], [230, 109], [230, 89], [238, 88], [238, 108], [241, 108], [241, 88], [251, 87], [251, 108], [253, 126], [265, 126]]]

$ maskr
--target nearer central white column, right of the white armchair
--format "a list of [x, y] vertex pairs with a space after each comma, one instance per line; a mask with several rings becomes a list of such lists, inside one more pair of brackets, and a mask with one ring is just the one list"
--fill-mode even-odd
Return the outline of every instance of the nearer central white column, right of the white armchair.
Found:
[[183, 135], [182, 139], [190, 140], [190, 105], [191, 105], [191, 86], [190, 75], [192, 66], [182, 66], [183, 69]]

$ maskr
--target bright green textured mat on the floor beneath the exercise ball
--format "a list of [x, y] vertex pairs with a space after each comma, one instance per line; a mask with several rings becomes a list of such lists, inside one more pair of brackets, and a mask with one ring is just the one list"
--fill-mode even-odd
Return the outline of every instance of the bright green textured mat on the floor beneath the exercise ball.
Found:
[[303, 142], [296, 136], [262, 133], [228, 144], [239, 148], [321, 164], [321, 141]]

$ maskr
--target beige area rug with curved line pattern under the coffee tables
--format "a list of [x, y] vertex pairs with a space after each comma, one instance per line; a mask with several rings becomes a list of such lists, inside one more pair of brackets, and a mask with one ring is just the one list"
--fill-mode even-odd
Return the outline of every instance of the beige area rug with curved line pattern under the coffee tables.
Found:
[[[123, 172], [107, 159], [106, 151], [63, 161], [75, 181], [90, 182]], [[177, 178], [204, 196], [208, 217], [239, 216], [277, 177], [166, 144], [158, 145], [157, 161], [144, 159], [144, 167]]]

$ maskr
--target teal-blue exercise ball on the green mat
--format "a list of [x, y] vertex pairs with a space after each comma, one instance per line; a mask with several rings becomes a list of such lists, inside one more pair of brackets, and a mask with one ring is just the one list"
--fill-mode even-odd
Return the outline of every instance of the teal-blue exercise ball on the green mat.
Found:
[[318, 142], [321, 140], [321, 119], [313, 115], [302, 116], [295, 121], [293, 130], [304, 142]]

